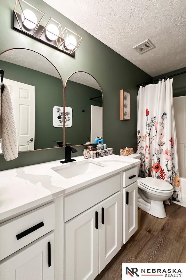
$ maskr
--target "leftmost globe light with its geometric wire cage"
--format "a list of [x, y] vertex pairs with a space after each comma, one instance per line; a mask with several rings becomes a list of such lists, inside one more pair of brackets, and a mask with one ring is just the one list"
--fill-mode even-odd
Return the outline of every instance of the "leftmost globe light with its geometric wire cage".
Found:
[[20, 30], [29, 35], [34, 35], [44, 17], [44, 13], [24, 0], [16, 0], [14, 17], [17, 19]]

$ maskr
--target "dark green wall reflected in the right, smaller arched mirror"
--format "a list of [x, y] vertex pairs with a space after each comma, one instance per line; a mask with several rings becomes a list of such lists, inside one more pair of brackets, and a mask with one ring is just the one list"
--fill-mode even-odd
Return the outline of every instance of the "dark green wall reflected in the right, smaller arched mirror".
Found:
[[[65, 129], [66, 143], [82, 145], [90, 137], [90, 106], [102, 106], [102, 102], [90, 100], [102, 95], [100, 90], [73, 81], [66, 85], [66, 105], [72, 108], [72, 126]], [[100, 100], [101, 98], [99, 98]], [[82, 112], [82, 110], [85, 112]]]

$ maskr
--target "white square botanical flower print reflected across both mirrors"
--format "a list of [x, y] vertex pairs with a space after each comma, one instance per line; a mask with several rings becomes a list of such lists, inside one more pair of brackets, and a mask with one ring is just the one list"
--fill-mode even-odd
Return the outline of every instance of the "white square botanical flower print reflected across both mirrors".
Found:
[[63, 107], [54, 106], [53, 107], [53, 126], [54, 127], [63, 127], [65, 119], [65, 127], [72, 126], [72, 108], [65, 107], [65, 118], [63, 115]]

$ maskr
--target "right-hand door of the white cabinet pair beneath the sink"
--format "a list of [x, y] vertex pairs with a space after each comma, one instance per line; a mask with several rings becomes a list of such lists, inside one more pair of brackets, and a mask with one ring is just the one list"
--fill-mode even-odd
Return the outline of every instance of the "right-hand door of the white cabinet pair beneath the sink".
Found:
[[99, 273], [121, 248], [121, 192], [99, 205]]

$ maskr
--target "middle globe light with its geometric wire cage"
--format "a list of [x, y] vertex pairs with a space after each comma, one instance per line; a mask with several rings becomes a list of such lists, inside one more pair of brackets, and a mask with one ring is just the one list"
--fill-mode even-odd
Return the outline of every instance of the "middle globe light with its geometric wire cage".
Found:
[[39, 39], [59, 48], [65, 41], [61, 24], [50, 17]]

